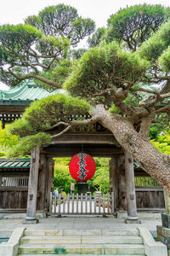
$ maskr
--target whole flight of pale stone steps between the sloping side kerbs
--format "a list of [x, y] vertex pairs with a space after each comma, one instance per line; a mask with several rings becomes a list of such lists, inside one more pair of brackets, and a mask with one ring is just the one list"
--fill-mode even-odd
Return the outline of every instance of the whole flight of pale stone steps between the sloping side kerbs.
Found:
[[18, 256], [144, 256], [139, 230], [25, 230]]

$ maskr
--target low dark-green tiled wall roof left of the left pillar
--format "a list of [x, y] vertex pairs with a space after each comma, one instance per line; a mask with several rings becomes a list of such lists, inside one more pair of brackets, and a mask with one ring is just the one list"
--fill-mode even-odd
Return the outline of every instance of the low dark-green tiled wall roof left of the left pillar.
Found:
[[0, 159], [0, 170], [4, 169], [30, 169], [31, 159], [20, 158], [20, 159]]

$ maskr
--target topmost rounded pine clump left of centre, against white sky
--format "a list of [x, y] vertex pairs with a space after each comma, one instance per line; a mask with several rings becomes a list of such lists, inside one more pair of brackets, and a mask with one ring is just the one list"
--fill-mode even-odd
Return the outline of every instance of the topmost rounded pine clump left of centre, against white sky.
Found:
[[46, 36], [65, 37], [75, 45], [94, 32], [94, 21], [82, 19], [77, 9], [59, 4], [43, 9], [37, 16], [26, 19], [27, 24], [36, 26]]

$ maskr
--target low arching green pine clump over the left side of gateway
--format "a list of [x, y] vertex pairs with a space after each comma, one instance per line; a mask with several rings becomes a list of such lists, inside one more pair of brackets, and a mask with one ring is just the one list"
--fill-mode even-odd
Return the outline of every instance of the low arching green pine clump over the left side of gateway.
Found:
[[72, 117], [79, 115], [77, 119], [84, 119], [88, 114], [90, 105], [77, 98], [65, 95], [48, 96], [40, 101], [32, 102], [21, 119], [14, 121], [9, 129], [13, 134], [21, 137], [46, 131], [51, 125], [59, 121], [68, 122]]

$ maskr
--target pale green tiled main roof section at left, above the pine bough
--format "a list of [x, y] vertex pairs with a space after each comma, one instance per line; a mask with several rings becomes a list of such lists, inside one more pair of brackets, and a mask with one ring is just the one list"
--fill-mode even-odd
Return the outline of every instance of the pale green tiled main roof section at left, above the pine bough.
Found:
[[15, 86], [14, 89], [0, 90], [0, 105], [28, 105], [35, 100], [57, 93], [65, 93], [65, 90], [57, 89], [48, 92], [27, 80]]

